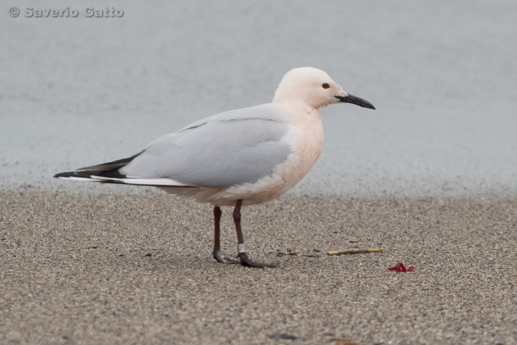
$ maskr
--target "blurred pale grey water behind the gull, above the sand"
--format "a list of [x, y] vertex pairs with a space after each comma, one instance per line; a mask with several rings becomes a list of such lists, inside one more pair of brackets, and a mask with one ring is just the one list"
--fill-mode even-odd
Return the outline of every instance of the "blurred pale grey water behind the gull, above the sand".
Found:
[[[123, 17], [84, 16], [106, 6]], [[314, 66], [377, 110], [321, 110], [323, 153], [295, 193], [515, 193], [516, 18], [505, 0], [2, 1], [0, 188], [135, 192], [52, 175], [266, 103]]]

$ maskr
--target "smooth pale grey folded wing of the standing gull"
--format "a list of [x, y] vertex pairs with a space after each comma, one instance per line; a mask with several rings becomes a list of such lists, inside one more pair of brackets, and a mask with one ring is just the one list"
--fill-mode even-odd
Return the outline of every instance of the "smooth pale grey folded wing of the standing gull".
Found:
[[119, 171], [207, 188], [254, 183], [290, 154], [286, 121], [271, 103], [223, 112], [156, 139]]

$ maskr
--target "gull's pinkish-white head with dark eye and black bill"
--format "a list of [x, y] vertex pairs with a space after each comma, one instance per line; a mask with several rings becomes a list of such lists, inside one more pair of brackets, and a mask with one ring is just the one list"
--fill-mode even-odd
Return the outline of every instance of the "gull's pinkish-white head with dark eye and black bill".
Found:
[[274, 92], [273, 102], [303, 103], [315, 109], [335, 103], [352, 103], [375, 109], [369, 101], [347, 94], [326, 72], [314, 67], [294, 68], [285, 73]]

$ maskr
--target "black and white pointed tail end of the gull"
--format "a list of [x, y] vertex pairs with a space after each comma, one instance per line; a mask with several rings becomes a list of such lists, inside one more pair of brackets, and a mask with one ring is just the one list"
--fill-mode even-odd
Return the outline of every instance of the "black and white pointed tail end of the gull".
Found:
[[[142, 151], [143, 152], [143, 151]], [[128, 158], [117, 159], [116, 161], [108, 161], [108, 163], [97, 164], [96, 166], [85, 166], [74, 171], [59, 172], [54, 175], [57, 179], [73, 179], [76, 181], [101, 182], [103, 184], [131, 184], [136, 186], [154, 186], [154, 187], [194, 187], [182, 184], [173, 179], [138, 179], [123, 175], [119, 169], [126, 166], [141, 155], [142, 152], [132, 155]]]

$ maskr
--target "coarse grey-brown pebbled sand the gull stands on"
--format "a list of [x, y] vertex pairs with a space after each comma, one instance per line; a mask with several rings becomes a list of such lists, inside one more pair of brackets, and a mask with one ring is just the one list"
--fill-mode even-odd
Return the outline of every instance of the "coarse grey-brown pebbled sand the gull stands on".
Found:
[[[242, 214], [248, 253], [278, 268], [216, 263], [210, 206], [158, 191], [1, 192], [0, 344], [517, 342], [517, 197], [287, 196]], [[354, 247], [385, 252], [325, 254]]]

